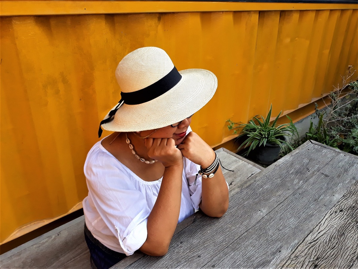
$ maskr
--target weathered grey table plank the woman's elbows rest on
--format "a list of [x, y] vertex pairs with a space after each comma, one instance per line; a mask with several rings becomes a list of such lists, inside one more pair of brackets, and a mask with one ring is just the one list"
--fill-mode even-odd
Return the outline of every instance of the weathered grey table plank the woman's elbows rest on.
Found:
[[[292, 154], [295, 158], [287, 157], [281, 166], [271, 170], [269, 180], [264, 170], [261, 172], [263, 176], [232, 197], [229, 209], [222, 218], [203, 216], [173, 237], [166, 256], [144, 256], [128, 268], [174, 268], [189, 264], [192, 268], [200, 268], [212, 257], [221, 255], [230, 242], [254, 227], [266, 214], [313, 178], [320, 166], [329, 162], [327, 155], [332, 151], [309, 144], [315, 148], [318, 157], [306, 154], [303, 150], [305, 147], [301, 147], [299, 152]], [[333, 156], [338, 155], [333, 153]], [[287, 180], [287, 174], [292, 174], [296, 179]]]

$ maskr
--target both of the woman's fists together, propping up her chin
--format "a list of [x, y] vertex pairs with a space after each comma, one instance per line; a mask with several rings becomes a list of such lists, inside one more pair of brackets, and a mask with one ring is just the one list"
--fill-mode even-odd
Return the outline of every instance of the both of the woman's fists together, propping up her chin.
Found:
[[173, 138], [145, 138], [145, 146], [148, 156], [164, 167], [182, 164], [183, 156], [203, 168], [209, 167], [215, 160], [212, 148], [194, 132], [188, 133], [177, 147]]

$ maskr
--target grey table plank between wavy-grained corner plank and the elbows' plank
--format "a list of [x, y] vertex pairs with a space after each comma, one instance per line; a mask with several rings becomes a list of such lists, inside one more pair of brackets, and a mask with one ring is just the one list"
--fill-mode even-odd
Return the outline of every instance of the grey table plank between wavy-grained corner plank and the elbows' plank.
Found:
[[[203, 268], [273, 268], [280, 264], [357, 180], [357, 160], [348, 156], [342, 159], [335, 152], [325, 157], [331, 160], [312, 176], [308, 175], [305, 184], [254, 227], [234, 242], [227, 242], [229, 246]], [[269, 183], [273, 177], [267, 176]], [[288, 176], [287, 180], [294, 180]], [[338, 248], [330, 249], [328, 255], [333, 255], [334, 250], [339, 251]]]

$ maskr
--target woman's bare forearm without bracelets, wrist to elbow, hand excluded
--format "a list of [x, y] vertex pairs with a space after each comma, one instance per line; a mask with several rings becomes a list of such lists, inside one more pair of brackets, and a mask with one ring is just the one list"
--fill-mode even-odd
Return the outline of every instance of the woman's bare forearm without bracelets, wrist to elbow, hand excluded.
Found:
[[167, 253], [180, 213], [183, 162], [165, 168], [158, 198], [148, 217], [147, 239], [140, 250], [151, 256]]

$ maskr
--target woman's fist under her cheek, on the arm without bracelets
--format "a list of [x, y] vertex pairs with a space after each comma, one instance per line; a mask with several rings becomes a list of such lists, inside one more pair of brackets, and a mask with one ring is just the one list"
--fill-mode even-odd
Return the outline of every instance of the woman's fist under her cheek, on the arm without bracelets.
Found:
[[145, 138], [148, 156], [164, 167], [183, 165], [182, 152], [176, 148], [173, 138]]

